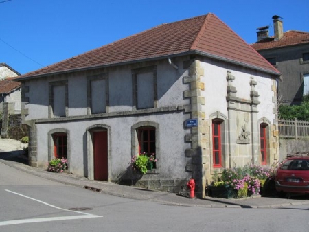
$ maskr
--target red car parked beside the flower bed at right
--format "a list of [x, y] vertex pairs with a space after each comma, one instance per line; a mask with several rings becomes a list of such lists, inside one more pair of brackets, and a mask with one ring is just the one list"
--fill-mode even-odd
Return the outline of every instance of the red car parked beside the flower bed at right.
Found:
[[286, 159], [277, 169], [275, 187], [278, 192], [309, 193], [309, 157]]

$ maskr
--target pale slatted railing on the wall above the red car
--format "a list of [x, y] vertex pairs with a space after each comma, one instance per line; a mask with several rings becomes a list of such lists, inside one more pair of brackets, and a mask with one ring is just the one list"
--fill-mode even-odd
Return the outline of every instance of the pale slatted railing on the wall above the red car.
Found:
[[279, 120], [279, 137], [282, 138], [301, 138], [309, 137], [309, 121]]

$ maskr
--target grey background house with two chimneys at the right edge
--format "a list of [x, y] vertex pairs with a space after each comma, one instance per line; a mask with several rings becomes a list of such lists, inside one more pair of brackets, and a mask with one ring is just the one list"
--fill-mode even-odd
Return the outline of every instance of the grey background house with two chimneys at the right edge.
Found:
[[268, 26], [258, 28], [258, 42], [251, 46], [282, 73], [279, 103], [300, 104], [309, 93], [309, 32], [284, 32], [279, 16], [273, 16], [273, 29], [274, 36], [269, 36]]

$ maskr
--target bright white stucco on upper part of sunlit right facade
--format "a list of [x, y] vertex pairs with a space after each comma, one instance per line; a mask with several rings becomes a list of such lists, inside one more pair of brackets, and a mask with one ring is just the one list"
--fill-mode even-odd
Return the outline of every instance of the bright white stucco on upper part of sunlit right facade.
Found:
[[270, 75], [266, 73], [260, 73], [257, 71], [251, 71], [249, 69], [228, 65], [222, 67], [219, 62], [209, 61], [201, 62], [201, 66], [204, 69], [205, 76], [202, 78], [202, 82], [205, 83], [205, 91], [203, 96], [205, 97], [205, 106], [203, 111], [206, 113], [206, 118], [209, 115], [220, 111], [224, 115], [227, 115], [227, 71], [231, 71], [231, 74], [235, 76], [232, 84], [236, 87], [238, 98], [244, 100], [251, 100], [250, 98], [250, 80], [253, 76], [254, 80], [258, 82], [255, 86], [255, 91], [258, 91], [260, 104], [258, 105], [258, 119], [266, 117], [269, 121], [273, 122], [275, 115], [273, 114], [273, 96], [274, 93], [271, 89], [273, 80]]

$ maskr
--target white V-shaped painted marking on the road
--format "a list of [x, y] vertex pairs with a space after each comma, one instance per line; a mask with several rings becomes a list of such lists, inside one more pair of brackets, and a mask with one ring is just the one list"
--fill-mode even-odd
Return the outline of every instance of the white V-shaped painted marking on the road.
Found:
[[84, 212], [80, 212], [80, 211], [74, 211], [74, 210], [69, 210], [69, 209], [62, 209], [60, 207], [56, 207], [55, 205], [51, 205], [47, 202], [44, 202], [42, 200], [37, 200], [35, 198], [30, 198], [29, 196], [25, 196], [23, 194], [19, 194], [16, 192], [12, 192], [8, 189], [5, 189], [5, 191], [10, 192], [12, 194], [16, 194], [19, 196], [23, 196], [24, 198], [28, 198], [30, 200], [34, 200], [37, 202], [40, 202], [44, 205], [47, 205], [49, 207], [53, 207], [55, 209], [60, 209], [63, 211], [70, 211], [73, 213], [80, 213], [83, 215], [80, 216], [65, 216], [65, 217], [53, 217], [53, 218], [30, 218], [30, 219], [23, 219], [23, 220], [8, 220], [8, 221], [3, 221], [0, 222], [0, 226], [5, 226], [5, 225], [9, 225], [9, 224], [23, 224], [23, 223], [33, 223], [33, 222], [52, 222], [52, 221], [58, 221], [58, 220], [74, 220], [74, 219], [82, 219], [82, 218], [102, 218], [102, 216], [98, 216], [98, 215], [94, 215], [94, 214], [90, 214], [90, 213], [84, 213]]

